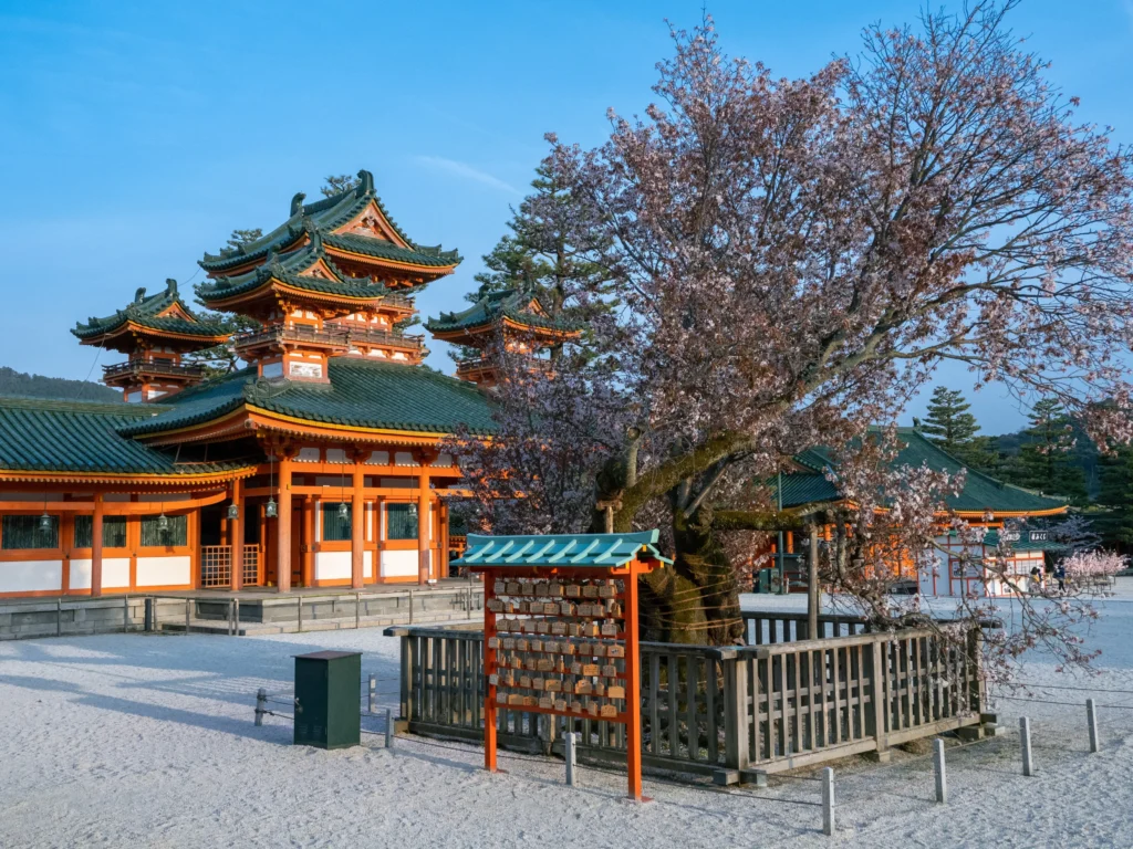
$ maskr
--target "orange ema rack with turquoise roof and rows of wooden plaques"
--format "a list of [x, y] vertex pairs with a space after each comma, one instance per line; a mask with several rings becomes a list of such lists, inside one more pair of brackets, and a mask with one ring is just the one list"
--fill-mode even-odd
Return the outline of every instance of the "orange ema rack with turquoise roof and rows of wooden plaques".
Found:
[[469, 534], [453, 565], [484, 573], [484, 769], [499, 710], [625, 724], [629, 795], [641, 800], [638, 578], [671, 563], [657, 531]]

